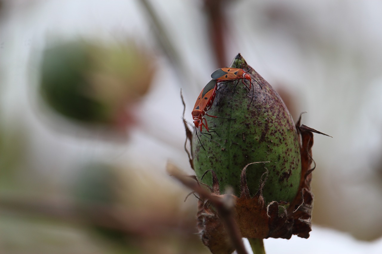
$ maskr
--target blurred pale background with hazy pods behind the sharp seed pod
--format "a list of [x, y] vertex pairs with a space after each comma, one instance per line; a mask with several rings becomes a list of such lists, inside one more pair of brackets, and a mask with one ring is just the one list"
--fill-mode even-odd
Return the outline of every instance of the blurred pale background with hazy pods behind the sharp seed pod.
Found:
[[379, 1], [1, 0], [0, 253], [209, 253], [181, 121], [241, 53], [315, 135], [309, 239], [382, 251]]

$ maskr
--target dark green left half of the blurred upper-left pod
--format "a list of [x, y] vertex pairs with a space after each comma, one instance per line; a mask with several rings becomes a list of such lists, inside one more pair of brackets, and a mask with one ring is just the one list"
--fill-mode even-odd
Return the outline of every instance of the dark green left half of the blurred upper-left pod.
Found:
[[76, 41], [45, 50], [41, 92], [49, 106], [66, 117], [89, 122], [106, 118], [105, 107], [86, 93], [92, 69], [89, 45]]

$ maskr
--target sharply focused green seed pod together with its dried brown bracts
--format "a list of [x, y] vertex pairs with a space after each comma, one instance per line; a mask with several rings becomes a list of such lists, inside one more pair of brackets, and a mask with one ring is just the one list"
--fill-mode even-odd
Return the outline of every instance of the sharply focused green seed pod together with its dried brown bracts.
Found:
[[[193, 111], [198, 117], [197, 109], [205, 113], [202, 110], [210, 108], [210, 116], [225, 119], [195, 118], [196, 125], [203, 120], [205, 133], [195, 130], [193, 134], [183, 120], [187, 140], [191, 140], [192, 152], [187, 153], [195, 180], [210, 188], [172, 173], [199, 195], [197, 229], [214, 254], [242, 249], [241, 237], [248, 238], [259, 253], [264, 252], [264, 238], [309, 237], [313, 133], [326, 135], [301, 124], [301, 116], [295, 125], [280, 96], [240, 54], [231, 64], [237, 67], [249, 75], [238, 71], [226, 77], [228, 68], [215, 71], [214, 79], [239, 78], [220, 83], [216, 94], [209, 83], [206, 96], [198, 97], [206, 106], [197, 103], [199, 108]], [[243, 78], [256, 81], [249, 91]], [[206, 121], [210, 133], [204, 128]], [[232, 186], [235, 193], [221, 194], [226, 186]]]

